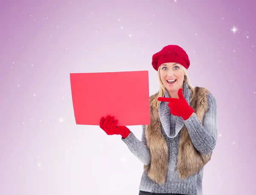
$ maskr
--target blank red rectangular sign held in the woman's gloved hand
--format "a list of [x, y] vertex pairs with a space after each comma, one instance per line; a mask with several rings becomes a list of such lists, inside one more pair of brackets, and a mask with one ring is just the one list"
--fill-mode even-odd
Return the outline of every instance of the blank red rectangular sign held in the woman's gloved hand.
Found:
[[76, 124], [108, 115], [117, 126], [150, 124], [148, 71], [70, 73], [70, 83]]

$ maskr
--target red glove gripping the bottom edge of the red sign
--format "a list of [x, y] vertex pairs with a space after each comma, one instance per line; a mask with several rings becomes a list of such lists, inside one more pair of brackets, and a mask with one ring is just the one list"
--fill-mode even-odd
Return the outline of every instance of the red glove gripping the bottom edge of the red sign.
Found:
[[118, 120], [114, 117], [107, 116], [106, 119], [102, 117], [99, 122], [99, 127], [102, 128], [108, 135], [121, 135], [126, 138], [130, 134], [130, 130], [125, 126], [116, 127]]

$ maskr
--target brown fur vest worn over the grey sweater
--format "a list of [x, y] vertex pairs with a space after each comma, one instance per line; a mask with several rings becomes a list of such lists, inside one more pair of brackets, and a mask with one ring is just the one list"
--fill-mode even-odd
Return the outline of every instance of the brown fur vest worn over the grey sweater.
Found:
[[[204, 114], [208, 110], [207, 93], [205, 88], [195, 87], [195, 96], [190, 106], [195, 110], [199, 121], [203, 124]], [[151, 153], [151, 162], [144, 165], [148, 177], [157, 184], [165, 184], [169, 163], [169, 151], [166, 139], [161, 132], [161, 121], [158, 109], [152, 107], [152, 101], [158, 93], [150, 96], [150, 125], [145, 125], [145, 138]], [[189, 102], [188, 102], [189, 103]], [[176, 170], [181, 179], [188, 178], [201, 170], [211, 159], [212, 153], [203, 155], [195, 149], [189, 137], [186, 125], [180, 130], [179, 148]]]

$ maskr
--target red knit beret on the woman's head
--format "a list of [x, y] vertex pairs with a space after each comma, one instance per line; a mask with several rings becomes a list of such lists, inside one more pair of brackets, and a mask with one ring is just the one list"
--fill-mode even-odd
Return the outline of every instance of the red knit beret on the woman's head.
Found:
[[178, 45], [167, 45], [161, 51], [152, 56], [152, 65], [156, 71], [160, 65], [168, 62], [179, 63], [186, 69], [188, 69], [190, 65], [186, 51]]

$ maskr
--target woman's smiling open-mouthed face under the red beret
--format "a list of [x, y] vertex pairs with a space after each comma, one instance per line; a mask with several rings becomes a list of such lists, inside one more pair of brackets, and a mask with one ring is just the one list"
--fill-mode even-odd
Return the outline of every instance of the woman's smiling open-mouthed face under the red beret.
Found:
[[[177, 91], [183, 89], [184, 71], [182, 65], [174, 62], [160, 65], [160, 78], [169, 96], [177, 97]], [[174, 81], [173, 81], [174, 80]]]

